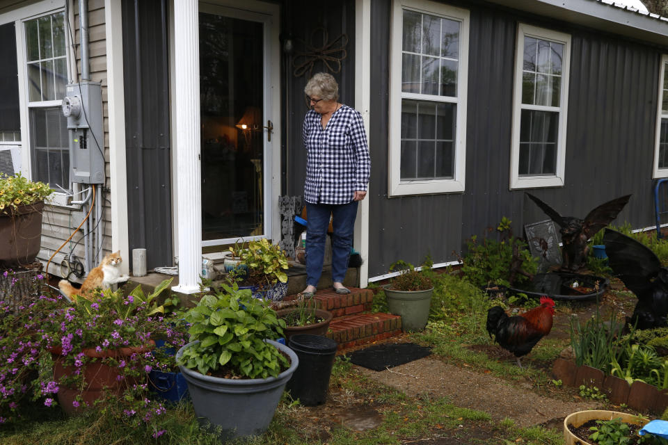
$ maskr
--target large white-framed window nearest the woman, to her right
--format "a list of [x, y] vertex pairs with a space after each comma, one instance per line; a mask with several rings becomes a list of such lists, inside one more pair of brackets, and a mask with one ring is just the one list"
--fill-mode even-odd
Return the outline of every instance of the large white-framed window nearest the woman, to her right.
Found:
[[464, 191], [467, 10], [395, 0], [390, 195]]

